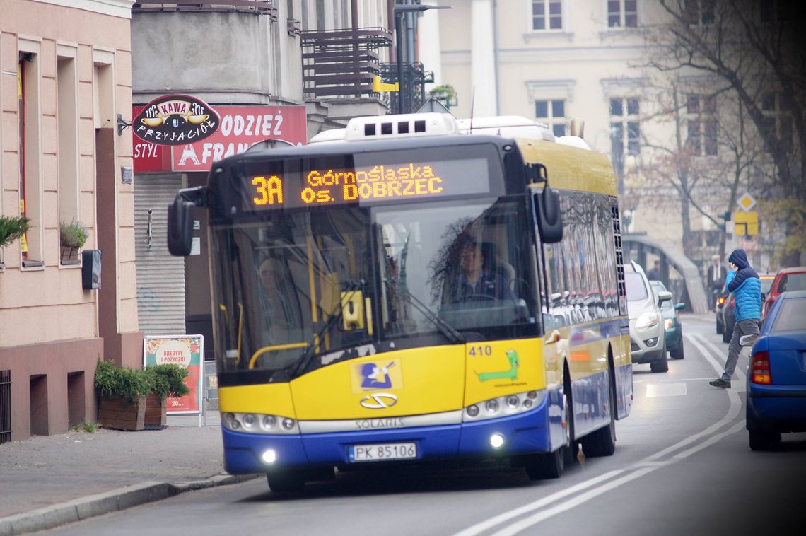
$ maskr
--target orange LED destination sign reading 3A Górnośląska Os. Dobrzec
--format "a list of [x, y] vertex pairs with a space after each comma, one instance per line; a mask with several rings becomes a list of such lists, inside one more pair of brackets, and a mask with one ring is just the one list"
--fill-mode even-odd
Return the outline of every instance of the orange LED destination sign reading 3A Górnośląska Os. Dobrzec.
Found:
[[484, 158], [315, 168], [265, 173], [251, 181], [252, 209], [399, 201], [489, 192]]

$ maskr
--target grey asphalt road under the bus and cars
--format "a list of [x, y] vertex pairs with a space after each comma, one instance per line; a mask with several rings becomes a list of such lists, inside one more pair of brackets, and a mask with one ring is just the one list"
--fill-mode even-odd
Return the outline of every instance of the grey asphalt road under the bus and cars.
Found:
[[[684, 316], [685, 354], [667, 373], [634, 365], [632, 414], [616, 454], [559, 480], [509, 467], [339, 473], [305, 495], [265, 480], [210, 488], [50, 534], [804, 534], [806, 434], [753, 452], [744, 427], [747, 350], [733, 388], [708, 385], [727, 345], [712, 318]], [[797, 525], [796, 525], [797, 523]]]

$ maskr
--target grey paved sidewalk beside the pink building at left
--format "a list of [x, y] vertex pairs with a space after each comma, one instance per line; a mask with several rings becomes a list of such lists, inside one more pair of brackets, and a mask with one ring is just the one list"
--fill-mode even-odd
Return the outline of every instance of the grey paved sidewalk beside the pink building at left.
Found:
[[253, 476], [224, 472], [218, 412], [168, 428], [35, 436], [0, 445], [0, 536], [43, 530]]

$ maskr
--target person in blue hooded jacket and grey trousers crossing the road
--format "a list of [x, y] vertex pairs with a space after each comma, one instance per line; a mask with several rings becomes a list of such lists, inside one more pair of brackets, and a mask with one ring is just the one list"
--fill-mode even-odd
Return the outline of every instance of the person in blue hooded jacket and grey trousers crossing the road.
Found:
[[[721, 388], [730, 388], [730, 377], [733, 376], [739, 353], [742, 351], [739, 339], [742, 335], [758, 337], [758, 322], [761, 320], [761, 280], [750, 266], [745, 250], [734, 249], [728, 258], [728, 266], [730, 271], [725, 278], [725, 291], [733, 293], [736, 323], [733, 325], [733, 336], [728, 344], [725, 372], [722, 372], [722, 376], [716, 380], [708, 382], [714, 387]], [[750, 343], [754, 337], [746, 338], [746, 343]]]

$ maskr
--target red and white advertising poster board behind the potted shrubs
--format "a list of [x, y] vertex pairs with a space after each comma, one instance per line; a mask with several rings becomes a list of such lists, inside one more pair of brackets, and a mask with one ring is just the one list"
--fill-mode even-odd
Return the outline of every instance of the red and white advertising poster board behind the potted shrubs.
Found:
[[184, 397], [165, 399], [165, 412], [170, 414], [202, 413], [203, 335], [168, 335], [143, 339], [143, 366], [175, 364], [187, 368], [185, 385], [190, 392]]

